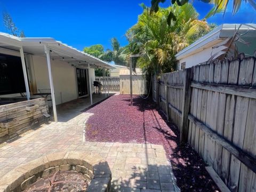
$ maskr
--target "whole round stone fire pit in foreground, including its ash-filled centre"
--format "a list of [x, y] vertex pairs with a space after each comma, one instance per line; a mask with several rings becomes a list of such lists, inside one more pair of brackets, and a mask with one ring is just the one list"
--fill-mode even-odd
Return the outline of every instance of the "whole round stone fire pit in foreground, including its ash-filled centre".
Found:
[[102, 191], [111, 188], [108, 163], [98, 155], [55, 153], [21, 165], [0, 179], [1, 192]]

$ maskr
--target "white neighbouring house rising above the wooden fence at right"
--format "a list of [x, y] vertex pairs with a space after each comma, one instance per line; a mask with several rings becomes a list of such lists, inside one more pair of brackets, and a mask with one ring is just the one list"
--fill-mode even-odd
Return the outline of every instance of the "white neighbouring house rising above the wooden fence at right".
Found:
[[223, 24], [177, 53], [175, 55], [177, 68], [192, 67], [208, 61], [214, 54], [219, 54], [225, 49], [228, 39], [234, 36], [238, 28], [239, 39], [235, 43], [237, 51], [245, 53], [245, 57], [252, 56], [256, 50], [256, 24]]

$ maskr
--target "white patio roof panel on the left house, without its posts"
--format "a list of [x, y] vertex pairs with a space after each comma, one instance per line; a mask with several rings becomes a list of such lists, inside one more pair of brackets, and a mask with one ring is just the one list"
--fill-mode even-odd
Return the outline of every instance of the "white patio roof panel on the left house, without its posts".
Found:
[[24, 52], [34, 55], [45, 55], [44, 45], [47, 45], [51, 52], [51, 58], [67, 61], [68, 63], [86, 67], [111, 68], [109, 63], [93, 57], [90, 54], [79, 51], [72, 46], [68, 46], [54, 38], [20, 38], [10, 34], [0, 33], [0, 47], [4, 49], [19, 51], [19, 47], [23, 47]]

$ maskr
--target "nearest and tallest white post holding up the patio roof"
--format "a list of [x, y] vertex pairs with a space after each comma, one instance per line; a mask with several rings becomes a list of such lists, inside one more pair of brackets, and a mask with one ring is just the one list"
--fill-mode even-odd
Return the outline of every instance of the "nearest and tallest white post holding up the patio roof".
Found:
[[51, 87], [53, 116], [54, 116], [54, 121], [58, 122], [55, 96], [54, 96], [54, 88], [53, 88], [53, 81], [52, 81], [52, 68], [51, 68], [50, 50], [48, 49], [48, 47], [46, 45], [44, 45], [44, 51], [45, 51], [46, 59], [47, 59], [47, 67], [48, 67], [49, 81], [50, 81], [50, 87]]

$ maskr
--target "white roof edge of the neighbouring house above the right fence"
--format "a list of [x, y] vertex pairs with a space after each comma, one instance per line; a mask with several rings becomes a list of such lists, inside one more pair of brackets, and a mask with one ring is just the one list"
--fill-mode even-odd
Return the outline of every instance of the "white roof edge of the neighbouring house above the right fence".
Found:
[[[179, 53], [175, 54], [177, 60], [185, 58], [188, 55], [202, 51], [212, 45], [221, 42], [227, 37], [232, 37], [235, 30], [241, 24], [222, 24], [202, 38], [198, 39], [193, 44], [189, 45]], [[239, 29], [239, 33], [246, 33], [246, 36], [256, 37], [256, 24], [243, 24]]]

